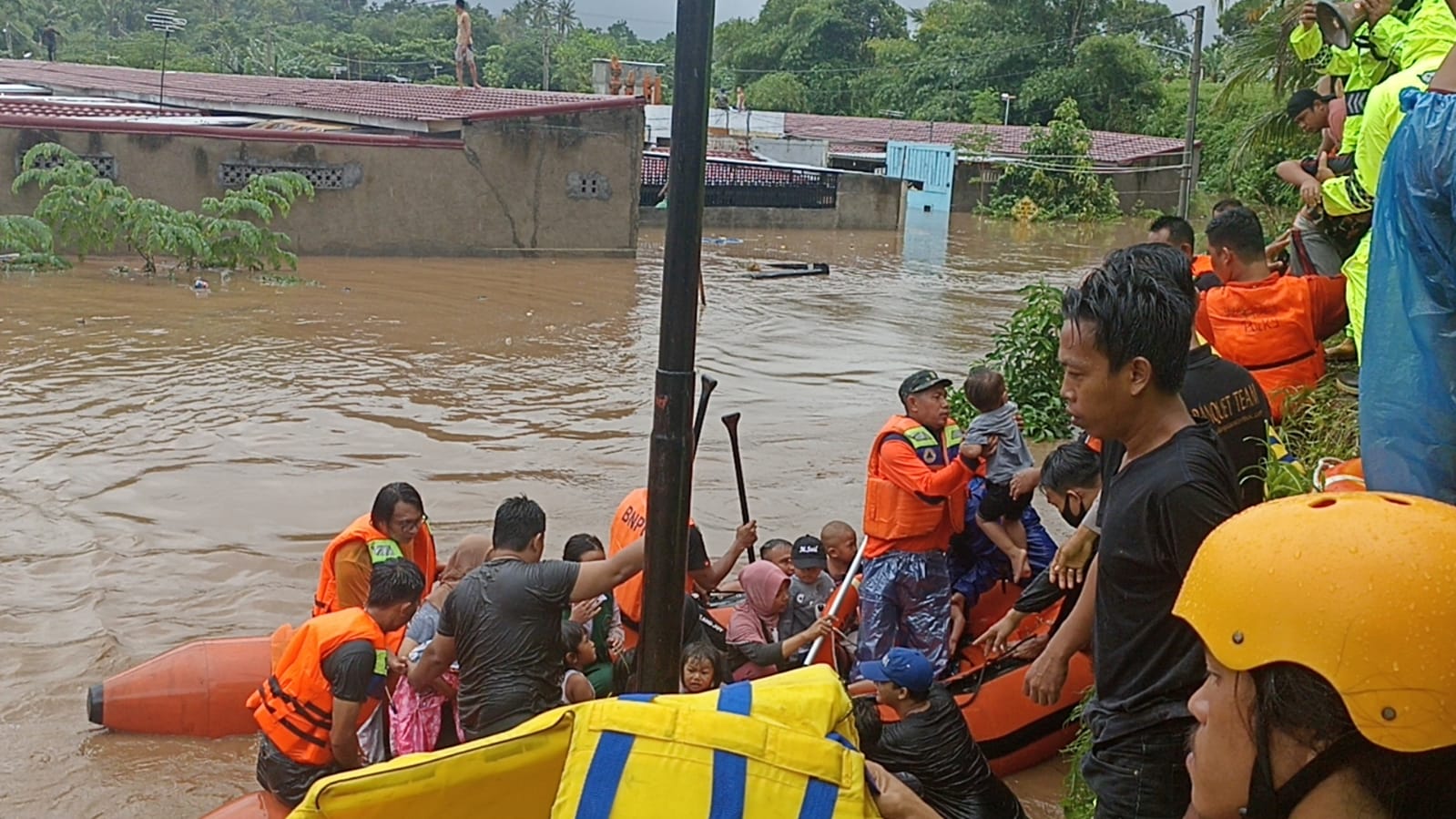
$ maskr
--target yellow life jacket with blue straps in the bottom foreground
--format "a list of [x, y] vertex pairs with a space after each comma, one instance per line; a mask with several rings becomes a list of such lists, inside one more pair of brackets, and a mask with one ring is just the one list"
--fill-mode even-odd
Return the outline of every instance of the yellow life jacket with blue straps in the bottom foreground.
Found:
[[[294, 819], [878, 816], [831, 670], [568, 705], [515, 730], [320, 780]], [[232, 815], [248, 816], [248, 815]], [[250, 816], [264, 816], [253, 813]]]

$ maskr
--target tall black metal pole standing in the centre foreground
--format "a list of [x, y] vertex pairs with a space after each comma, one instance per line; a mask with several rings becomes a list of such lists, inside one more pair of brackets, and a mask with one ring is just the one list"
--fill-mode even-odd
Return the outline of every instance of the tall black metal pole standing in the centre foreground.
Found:
[[662, 328], [646, 479], [641, 691], [677, 694], [683, 647], [687, 509], [693, 491], [693, 361], [697, 280], [703, 251], [703, 173], [708, 165], [708, 64], [713, 0], [677, 0], [673, 146], [667, 168], [662, 249]]

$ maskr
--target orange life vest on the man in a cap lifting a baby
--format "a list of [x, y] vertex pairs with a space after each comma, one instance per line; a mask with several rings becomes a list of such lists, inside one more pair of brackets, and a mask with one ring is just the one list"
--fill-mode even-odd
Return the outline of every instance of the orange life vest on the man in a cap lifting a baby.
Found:
[[949, 466], [961, 452], [961, 428], [951, 421], [935, 433], [906, 415], [894, 415], [885, 421], [869, 449], [869, 468], [865, 475], [865, 535], [879, 541], [898, 541], [933, 533], [948, 516], [951, 530], [965, 529], [967, 485], [962, 484], [948, 498], [926, 498], [907, 493], [893, 484], [879, 466], [879, 447], [890, 436], [900, 436], [920, 456], [930, 471]]

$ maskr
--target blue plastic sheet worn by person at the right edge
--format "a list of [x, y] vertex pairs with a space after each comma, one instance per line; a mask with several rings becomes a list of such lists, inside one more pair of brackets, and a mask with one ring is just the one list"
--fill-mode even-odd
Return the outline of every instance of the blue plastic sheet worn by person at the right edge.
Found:
[[1360, 455], [1370, 490], [1456, 503], [1456, 95], [1401, 103], [1372, 227]]

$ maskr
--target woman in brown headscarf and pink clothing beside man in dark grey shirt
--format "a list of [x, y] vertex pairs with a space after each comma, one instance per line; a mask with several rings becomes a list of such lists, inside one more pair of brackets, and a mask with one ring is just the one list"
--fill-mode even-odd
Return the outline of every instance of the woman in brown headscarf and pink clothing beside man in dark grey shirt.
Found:
[[[440, 583], [435, 583], [435, 589], [409, 621], [405, 643], [399, 650], [402, 657], [408, 657], [409, 662], [418, 660], [418, 650], [435, 638], [440, 612], [444, 611], [450, 592], [466, 574], [485, 563], [489, 552], [491, 538], [485, 535], [467, 535], [460, 541], [460, 548], [450, 555], [450, 563], [440, 574]], [[412, 685], [395, 688], [389, 707], [390, 749], [395, 756], [460, 743], [460, 714], [454, 707], [454, 683], [456, 673], [451, 670], [440, 678], [440, 685], [435, 688], [415, 689]]]

